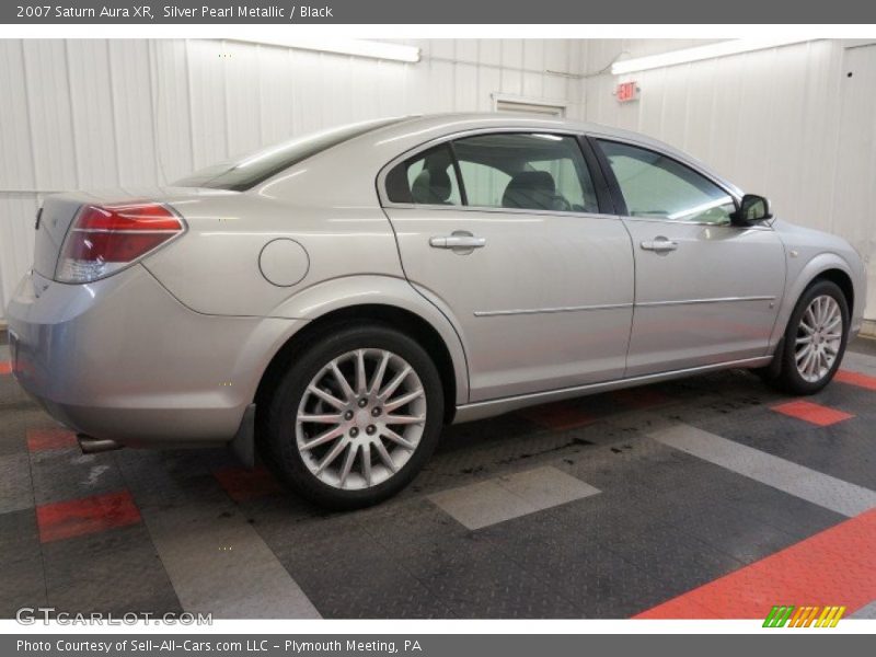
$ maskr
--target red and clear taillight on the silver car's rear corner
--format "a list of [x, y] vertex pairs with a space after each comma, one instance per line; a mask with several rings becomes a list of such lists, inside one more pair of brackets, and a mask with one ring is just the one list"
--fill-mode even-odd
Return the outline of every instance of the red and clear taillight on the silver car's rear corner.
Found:
[[157, 203], [84, 206], [64, 241], [55, 279], [89, 283], [105, 278], [183, 230], [183, 222]]

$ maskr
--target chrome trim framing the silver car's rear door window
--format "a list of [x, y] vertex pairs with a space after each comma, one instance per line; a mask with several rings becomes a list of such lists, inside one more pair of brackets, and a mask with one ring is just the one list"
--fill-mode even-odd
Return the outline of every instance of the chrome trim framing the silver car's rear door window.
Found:
[[[574, 130], [572, 128], [530, 128], [530, 127], [489, 127], [489, 128], [469, 128], [466, 130], [459, 130], [456, 132], [451, 132], [449, 135], [442, 135], [441, 137], [435, 137], [428, 141], [424, 141], [423, 143], [411, 148], [392, 160], [390, 160], [387, 164], [384, 164], [381, 170], [377, 174], [377, 192], [378, 198], [380, 200], [380, 206], [383, 208], [397, 208], [397, 209], [417, 209], [417, 210], [462, 210], [462, 211], [477, 211], [477, 212], [503, 212], [503, 214], [514, 214], [514, 215], [549, 215], [549, 216], [560, 216], [560, 217], [595, 217], [595, 218], [604, 218], [604, 219], [618, 219], [618, 215], [610, 214], [610, 212], [576, 212], [569, 210], [530, 210], [527, 208], [503, 208], [496, 206], [471, 206], [471, 205], [430, 205], [430, 204], [415, 204], [415, 203], [395, 203], [389, 199], [387, 194], [387, 175], [389, 174], [392, 169], [404, 162], [405, 160], [422, 153], [423, 151], [429, 150], [436, 146], [440, 146], [441, 143], [447, 143], [450, 141], [454, 141], [457, 139], [462, 139], [465, 137], [474, 137], [477, 135], [495, 135], [495, 134], [508, 134], [508, 132], [517, 132], [520, 135], [563, 135], [564, 137], [573, 137], [574, 139], [578, 139], [583, 137], [585, 132], [580, 130]], [[578, 145], [580, 148], [580, 145]], [[581, 152], [581, 159], [584, 160], [584, 153]], [[585, 166], [587, 166], [587, 162], [585, 160]], [[590, 168], [587, 166], [588, 173], [590, 172]], [[460, 181], [461, 183], [462, 181]]]

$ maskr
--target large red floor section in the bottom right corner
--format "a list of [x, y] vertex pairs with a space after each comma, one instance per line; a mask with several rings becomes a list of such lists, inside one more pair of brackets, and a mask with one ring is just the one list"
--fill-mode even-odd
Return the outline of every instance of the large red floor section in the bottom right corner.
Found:
[[876, 600], [876, 509], [855, 516], [634, 618], [765, 619], [774, 604], [844, 606]]

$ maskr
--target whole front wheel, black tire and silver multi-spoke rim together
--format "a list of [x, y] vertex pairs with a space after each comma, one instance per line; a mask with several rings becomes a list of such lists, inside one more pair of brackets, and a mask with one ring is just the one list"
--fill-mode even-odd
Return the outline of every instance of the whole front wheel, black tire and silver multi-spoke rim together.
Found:
[[849, 337], [849, 304], [837, 284], [809, 286], [791, 314], [776, 383], [794, 394], [825, 388], [840, 367]]

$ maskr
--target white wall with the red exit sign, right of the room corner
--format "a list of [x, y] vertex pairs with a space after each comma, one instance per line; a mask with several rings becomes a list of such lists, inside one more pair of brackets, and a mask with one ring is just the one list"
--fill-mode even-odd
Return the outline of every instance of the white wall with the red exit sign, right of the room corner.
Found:
[[[816, 41], [618, 78], [621, 53], [671, 42], [585, 42], [585, 114], [677, 146], [782, 217], [848, 239], [868, 261], [866, 316], [876, 320], [876, 46]], [[698, 43], [677, 43], [689, 47]], [[848, 73], [852, 72], [852, 77]], [[635, 80], [637, 102], [612, 95]]]

